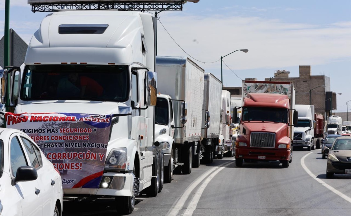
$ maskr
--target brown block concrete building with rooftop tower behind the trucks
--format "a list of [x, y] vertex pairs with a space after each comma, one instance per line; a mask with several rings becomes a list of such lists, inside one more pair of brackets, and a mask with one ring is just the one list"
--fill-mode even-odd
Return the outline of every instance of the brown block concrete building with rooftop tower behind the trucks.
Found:
[[[274, 77], [265, 78], [265, 81], [285, 81], [293, 82], [296, 89], [295, 104], [314, 105], [316, 113], [329, 116], [329, 111], [325, 111], [325, 92], [330, 91], [330, 78], [324, 75], [312, 76], [310, 65], [299, 66], [299, 77], [289, 77], [290, 72], [278, 70]], [[325, 87], [319, 87], [324, 85]], [[313, 90], [312, 90], [313, 89]]]

